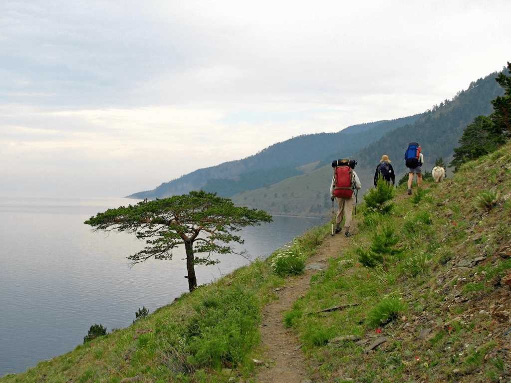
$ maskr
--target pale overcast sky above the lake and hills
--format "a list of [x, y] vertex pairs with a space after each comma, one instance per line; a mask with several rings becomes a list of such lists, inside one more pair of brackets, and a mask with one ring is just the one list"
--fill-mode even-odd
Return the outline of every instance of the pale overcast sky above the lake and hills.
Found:
[[494, 1], [0, 2], [0, 196], [152, 189], [423, 112], [511, 60]]

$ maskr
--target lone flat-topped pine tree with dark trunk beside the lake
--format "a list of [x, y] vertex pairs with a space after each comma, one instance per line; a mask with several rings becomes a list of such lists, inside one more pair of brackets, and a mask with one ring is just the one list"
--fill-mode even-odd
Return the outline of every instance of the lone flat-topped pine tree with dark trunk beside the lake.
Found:
[[211, 258], [214, 253], [240, 254], [229, 245], [243, 243], [235, 233], [261, 222], [271, 222], [271, 216], [263, 210], [235, 206], [228, 198], [201, 190], [108, 209], [85, 224], [96, 230], [134, 233], [145, 240], [147, 246], [143, 250], [127, 257], [132, 265], [149, 258], [171, 259], [172, 252], [184, 245], [185, 278], [188, 278], [189, 290], [193, 291], [197, 287], [195, 265], [217, 264], [219, 260]]

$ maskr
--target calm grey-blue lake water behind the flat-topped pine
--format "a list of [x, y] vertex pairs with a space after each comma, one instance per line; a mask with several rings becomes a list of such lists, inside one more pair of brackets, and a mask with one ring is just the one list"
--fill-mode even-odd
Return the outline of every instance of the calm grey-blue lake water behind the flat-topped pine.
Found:
[[[188, 290], [184, 251], [172, 260], [133, 268], [126, 256], [143, 247], [133, 236], [94, 233], [83, 224], [126, 199], [2, 199], [0, 202], [0, 376], [72, 350], [92, 323], [111, 330], [131, 324], [138, 307], [151, 312]], [[265, 256], [318, 225], [316, 219], [274, 217], [246, 228], [243, 249]], [[198, 267], [204, 283], [244, 264], [236, 255]]]

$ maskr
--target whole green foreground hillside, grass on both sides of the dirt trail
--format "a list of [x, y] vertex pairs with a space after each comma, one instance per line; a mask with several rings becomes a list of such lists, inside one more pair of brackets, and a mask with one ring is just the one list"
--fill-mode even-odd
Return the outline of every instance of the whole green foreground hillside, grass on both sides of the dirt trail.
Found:
[[[305, 292], [303, 275], [283, 279], [272, 273], [272, 258], [256, 261], [0, 382], [254, 381], [274, 368], [268, 355], [299, 349], [307, 367], [300, 371], [313, 381], [510, 381], [510, 164], [511, 143], [447, 182], [426, 184], [426, 193], [408, 197], [399, 188], [393, 214], [362, 207], [354, 237], [323, 241], [317, 253], [329, 259], [310, 265], [318, 271], [305, 275]], [[481, 198], [483, 192], [498, 197]], [[317, 260], [324, 233], [313, 230], [295, 244]], [[377, 267], [360, 264], [369, 249], [382, 256]], [[300, 343], [284, 339], [267, 352], [261, 312], [293, 286], [300, 294], [288, 299], [282, 319]]]

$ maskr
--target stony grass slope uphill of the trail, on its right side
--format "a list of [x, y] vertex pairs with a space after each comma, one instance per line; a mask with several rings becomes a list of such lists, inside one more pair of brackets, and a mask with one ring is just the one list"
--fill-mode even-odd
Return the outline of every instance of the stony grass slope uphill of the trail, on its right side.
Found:
[[[318, 381], [511, 381], [511, 300], [501, 279], [511, 258], [499, 255], [511, 255], [511, 143], [427, 187], [418, 204], [402, 188], [391, 216], [360, 219], [353, 247], [339, 249], [284, 315]], [[500, 191], [490, 211], [476, 203], [484, 190]], [[384, 227], [394, 230], [392, 248], [401, 252], [366, 268], [357, 247], [367, 249]], [[314, 314], [349, 303], [359, 305]], [[397, 319], [378, 324], [389, 305], [398, 306]], [[346, 335], [388, 341], [369, 353], [367, 345], [329, 343]]]

